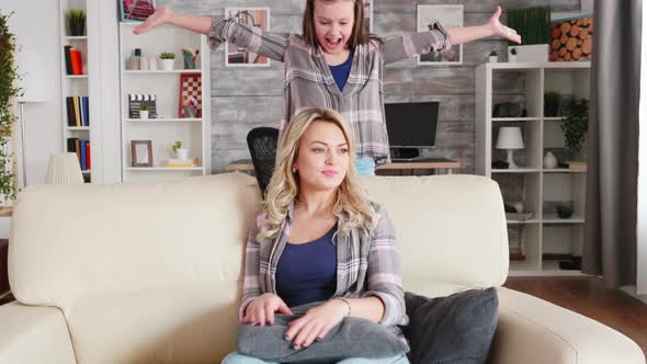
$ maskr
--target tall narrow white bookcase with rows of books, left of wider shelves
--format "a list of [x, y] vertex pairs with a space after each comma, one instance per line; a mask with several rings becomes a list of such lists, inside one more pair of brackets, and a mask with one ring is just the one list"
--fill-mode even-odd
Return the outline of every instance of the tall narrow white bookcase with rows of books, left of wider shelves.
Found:
[[[91, 182], [91, 140], [90, 94], [91, 72], [88, 56], [92, 47], [91, 38], [83, 33], [72, 35], [69, 14], [71, 10], [83, 10], [87, 13], [86, 0], [61, 0], [60, 16], [60, 55], [61, 55], [61, 127], [64, 151], [77, 152], [86, 182]], [[88, 21], [88, 20], [87, 20]], [[88, 26], [86, 26], [86, 30]]]

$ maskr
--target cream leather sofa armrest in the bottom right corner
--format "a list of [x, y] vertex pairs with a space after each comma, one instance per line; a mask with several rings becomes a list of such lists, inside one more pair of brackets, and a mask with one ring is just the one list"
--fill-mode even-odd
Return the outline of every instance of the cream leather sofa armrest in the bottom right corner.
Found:
[[517, 291], [498, 292], [491, 363], [645, 364], [640, 348], [610, 327]]

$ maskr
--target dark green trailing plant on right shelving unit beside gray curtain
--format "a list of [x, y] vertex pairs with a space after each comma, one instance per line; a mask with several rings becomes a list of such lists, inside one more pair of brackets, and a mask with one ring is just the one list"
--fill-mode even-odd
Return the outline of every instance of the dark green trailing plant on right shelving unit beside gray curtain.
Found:
[[579, 159], [584, 159], [580, 151], [584, 145], [589, 127], [589, 100], [572, 101], [561, 121], [559, 126], [564, 133], [566, 148], [576, 156], [580, 155]]

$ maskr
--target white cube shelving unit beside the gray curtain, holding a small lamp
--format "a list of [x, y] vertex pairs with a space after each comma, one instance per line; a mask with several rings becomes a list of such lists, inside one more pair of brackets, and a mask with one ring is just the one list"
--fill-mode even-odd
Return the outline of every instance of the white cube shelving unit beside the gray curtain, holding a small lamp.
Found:
[[[503, 191], [506, 203], [523, 201], [534, 215], [527, 220], [509, 220], [510, 238], [520, 240], [522, 255], [511, 255], [511, 275], [578, 275], [559, 270], [555, 258], [581, 255], [584, 224], [586, 171], [543, 168], [546, 151], [559, 149], [564, 139], [559, 116], [544, 115], [544, 92], [589, 99], [590, 61], [541, 64], [484, 64], [476, 68], [476, 171], [513, 185]], [[510, 87], [510, 82], [513, 83]], [[525, 104], [523, 117], [492, 117], [493, 106], [506, 101]], [[495, 149], [501, 126], [520, 126], [524, 149], [514, 152], [518, 169], [492, 169], [493, 160], [506, 160]], [[570, 218], [559, 218], [555, 205], [568, 202]]]

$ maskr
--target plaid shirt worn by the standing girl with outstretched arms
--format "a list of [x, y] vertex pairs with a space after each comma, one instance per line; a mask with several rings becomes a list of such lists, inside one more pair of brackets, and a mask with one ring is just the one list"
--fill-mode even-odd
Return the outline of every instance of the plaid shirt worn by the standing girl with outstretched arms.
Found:
[[216, 49], [226, 39], [285, 62], [281, 135], [299, 110], [329, 107], [341, 113], [350, 124], [356, 139], [356, 157], [371, 157], [377, 163], [389, 159], [382, 83], [384, 65], [452, 46], [447, 33], [439, 23], [428, 32], [359, 45], [345, 87], [340, 91], [321, 48], [307, 45], [302, 35], [261, 33], [232, 19], [215, 18], [208, 36], [211, 48]]

